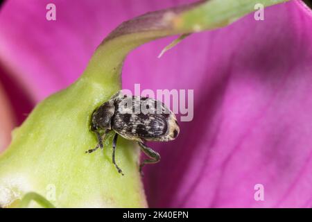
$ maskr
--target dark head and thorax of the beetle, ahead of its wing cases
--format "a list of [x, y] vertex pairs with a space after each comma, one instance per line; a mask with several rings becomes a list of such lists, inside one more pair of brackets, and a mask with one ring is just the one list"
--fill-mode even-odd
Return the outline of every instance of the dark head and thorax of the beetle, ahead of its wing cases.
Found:
[[112, 117], [115, 112], [114, 100], [103, 103], [94, 110], [91, 120], [91, 130], [94, 132], [105, 132], [112, 129]]

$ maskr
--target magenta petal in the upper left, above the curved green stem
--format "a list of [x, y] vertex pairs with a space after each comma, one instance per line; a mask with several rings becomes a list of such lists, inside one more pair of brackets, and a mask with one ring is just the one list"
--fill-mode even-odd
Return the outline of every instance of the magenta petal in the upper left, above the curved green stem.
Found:
[[51, 1], [8, 0], [0, 13], [0, 62], [40, 101], [73, 83], [98, 44], [121, 22], [189, 1], [55, 0], [56, 21], [48, 21]]

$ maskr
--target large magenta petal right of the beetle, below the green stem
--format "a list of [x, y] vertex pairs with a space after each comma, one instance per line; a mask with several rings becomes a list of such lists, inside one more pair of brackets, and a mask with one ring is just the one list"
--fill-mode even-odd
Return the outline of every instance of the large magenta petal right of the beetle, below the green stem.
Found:
[[[157, 145], [162, 162], [146, 171], [150, 206], [311, 207], [312, 13], [300, 1], [265, 13], [189, 37], [146, 78], [146, 87], [195, 89], [193, 121]], [[129, 87], [144, 78], [127, 69]]]

